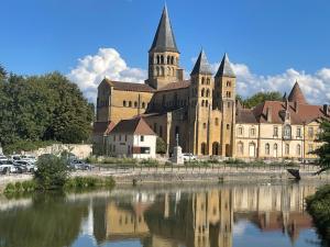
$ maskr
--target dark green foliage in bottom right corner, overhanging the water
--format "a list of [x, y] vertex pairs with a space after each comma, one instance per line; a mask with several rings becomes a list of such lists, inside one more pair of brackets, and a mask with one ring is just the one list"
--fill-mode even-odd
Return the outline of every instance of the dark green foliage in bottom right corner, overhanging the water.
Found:
[[330, 244], [330, 184], [323, 186], [306, 199], [307, 211], [312, 216], [322, 245]]

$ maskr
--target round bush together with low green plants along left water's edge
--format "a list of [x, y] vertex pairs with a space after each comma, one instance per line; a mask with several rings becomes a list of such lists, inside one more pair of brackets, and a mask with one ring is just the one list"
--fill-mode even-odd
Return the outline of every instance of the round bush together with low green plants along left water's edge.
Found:
[[114, 187], [112, 177], [69, 177], [67, 159], [62, 156], [44, 155], [36, 162], [37, 170], [32, 180], [8, 183], [4, 193], [29, 193], [35, 191], [68, 191]]

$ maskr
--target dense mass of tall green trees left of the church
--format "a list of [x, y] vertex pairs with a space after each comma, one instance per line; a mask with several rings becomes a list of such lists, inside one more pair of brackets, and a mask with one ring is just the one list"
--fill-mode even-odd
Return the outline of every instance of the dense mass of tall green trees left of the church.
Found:
[[0, 66], [0, 144], [7, 153], [48, 142], [87, 141], [94, 105], [59, 72], [8, 74]]

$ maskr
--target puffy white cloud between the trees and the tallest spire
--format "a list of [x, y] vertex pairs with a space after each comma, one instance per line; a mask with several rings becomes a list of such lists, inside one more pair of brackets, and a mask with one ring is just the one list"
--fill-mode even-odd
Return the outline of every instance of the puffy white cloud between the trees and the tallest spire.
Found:
[[114, 48], [99, 48], [96, 55], [78, 59], [77, 66], [67, 77], [79, 86], [88, 100], [96, 102], [97, 88], [105, 77], [111, 80], [141, 83], [146, 78], [146, 71], [130, 68]]

